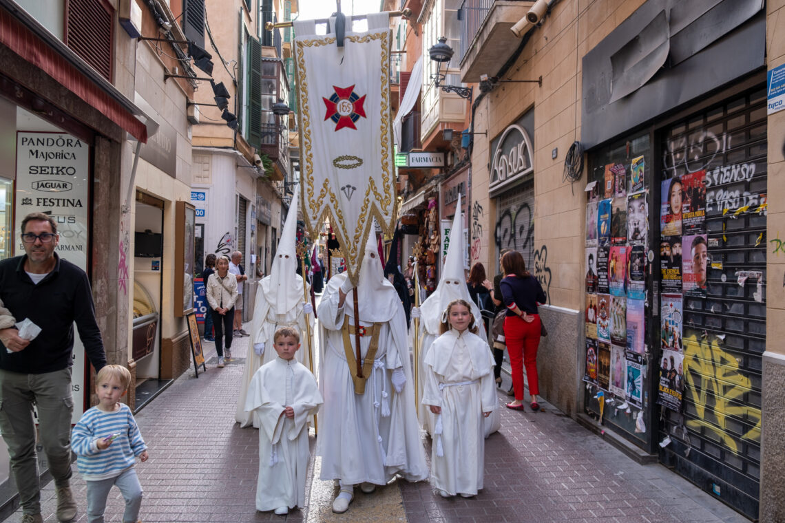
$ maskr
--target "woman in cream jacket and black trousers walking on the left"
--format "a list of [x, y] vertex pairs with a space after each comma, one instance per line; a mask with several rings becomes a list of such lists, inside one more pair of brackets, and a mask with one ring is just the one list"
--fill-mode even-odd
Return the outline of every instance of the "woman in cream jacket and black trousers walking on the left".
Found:
[[[237, 301], [237, 278], [229, 274], [229, 259], [219, 257], [215, 262], [216, 272], [207, 280], [207, 303], [213, 314], [215, 329], [215, 350], [218, 354], [218, 367], [224, 366], [224, 356], [232, 359], [232, 323], [235, 318]], [[224, 354], [226, 343], [226, 354]]]

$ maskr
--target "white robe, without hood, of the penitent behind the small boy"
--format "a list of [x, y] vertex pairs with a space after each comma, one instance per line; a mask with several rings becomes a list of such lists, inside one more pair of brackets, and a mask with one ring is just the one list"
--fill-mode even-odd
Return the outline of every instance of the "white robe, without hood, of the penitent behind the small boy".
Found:
[[[294, 278], [300, 278], [300, 276], [294, 274]], [[265, 296], [262, 285], [258, 285], [254, 305], [254, 318], [250, 324], [250, 343], [248, 343], [243, 380], [240, 381], [237, 407], [235, 409], [235, 421], [240, 424], [241, 428], [250, 427], [251, 423], [254, 423], [254, 427], [259, 428], [258, 423], [254, 421], [254, 416], [251, 416], [250, 412], [245, 410], [246, 394], [248, 387], [250, 387], [250, 381], [257, 369], [261, 365], [278, 358], [278, 354], [275, 348], [273, 348], [273, 336], [276, 330], [281, 327], [294, 327], [294, 329], [300, 331], [301, 347], [294, 354], [294, 358], [313, 372], [311, 368], [311, 349], [308, 343], [308, 336], [305, 333], [305, 325], [309, 325], [309, 329], [313, 332], [313, 315], [303, 313], [302, 301], [299, 301], [289, 311], [284, 311], [283, 314], [279, 314], [279, 312], [276, 306], [271, 303], [271, 300], [268, 300], [268, 296]], [[261, 356], [257, 356], [254, 352], [254, 343], [265, 343], [265, 352]]]

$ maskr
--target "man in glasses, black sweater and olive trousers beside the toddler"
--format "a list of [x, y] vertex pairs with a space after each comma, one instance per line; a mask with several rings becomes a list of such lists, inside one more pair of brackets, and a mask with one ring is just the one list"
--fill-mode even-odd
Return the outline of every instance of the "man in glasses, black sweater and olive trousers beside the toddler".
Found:
[[[68, 438], [74, 322], [96, 370], [106, 365], [106, 354], [87, 274], [54, 252], [60, 240], [57, 223], [32, 212], [22, 220], [20, 238], [25, 254], [0, 261], [0, 300], [8, 311], [4, 321], [7, 325], [11, 316], [41, 331], [33, 337], [16, 327], [0, 330], [0, 430], [19, 489], [22, 521], [43, 521], [35, 421], [57, 492], [57, 519], [71, 521], [76, 518]], [[37, 420], [31, 416], [34, 405]]]

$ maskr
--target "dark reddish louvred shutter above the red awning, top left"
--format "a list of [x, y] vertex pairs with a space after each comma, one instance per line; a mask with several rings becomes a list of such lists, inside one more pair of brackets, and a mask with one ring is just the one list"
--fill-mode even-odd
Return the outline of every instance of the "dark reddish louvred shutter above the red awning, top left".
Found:
[[104, 0], [68, 0], [65, 43], [109, 82], [114, 15]]

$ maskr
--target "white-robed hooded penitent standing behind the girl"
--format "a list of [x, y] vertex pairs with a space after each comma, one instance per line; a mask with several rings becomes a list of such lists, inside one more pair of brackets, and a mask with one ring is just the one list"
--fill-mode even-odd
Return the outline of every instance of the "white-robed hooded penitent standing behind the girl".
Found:
[[[463, 270], [463, 221], [461, 220], [461, 195], [458, 194], [458, 203], [455, 206], [458, 209], [453, 218], [452, 229], [450, 231], [450, 244], [447, 247], [447, 257], [444, 260], [444, 267], [442, 268], [441, 278], [436, 290], [422, 302], [420, 306], [420, 356], [419, 356], [419, 372], [418, 372], [418, 394], [422, 398], [422, 390], [425, 387], [425, 367], [424, 361], [428, 355], [428, 351], [436, 338], [440, 336], [441, 320], [444, 311], [447, 311], [447, 305], [453, 300], [465, 300], [471, 307], [472, 315], [476, 325], [483, 330], [483, 318], [480, 314], [480, 307], [474, 303], [472, 297], [469, 295], [469, 287], [466, 285], [466, 276]], [[428, 434], [433, 434], [433, 423], [435, 418], [433, 412], [428, 407], [422, 405], [421, 398], [416, 398], [418, 402], [418, 417], [422, 428], [428, 431]], [[498, 427], [502, 424], [501, 413], [498, 409], [494, 409], [491, 416], [488, 416], [483, 421], [484, 434], [487, 438], [493, 434]]]

